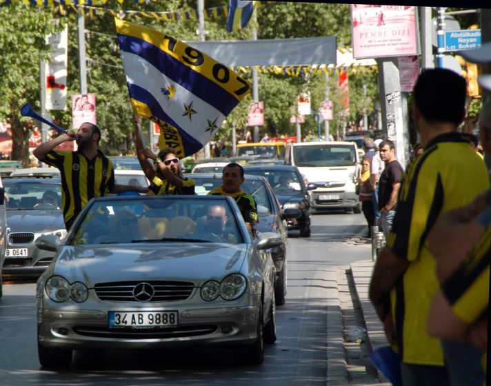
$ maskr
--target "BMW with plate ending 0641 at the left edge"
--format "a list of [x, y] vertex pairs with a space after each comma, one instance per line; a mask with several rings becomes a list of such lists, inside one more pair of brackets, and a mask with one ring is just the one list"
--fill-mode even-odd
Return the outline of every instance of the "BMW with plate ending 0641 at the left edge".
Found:
[[[52, 176], [3, 177], [6, 196], [5, 260], [3, 275], [39, 276], [50, 265], [54, 252], [39, 250], [35, 241], [42, 234], [63, 240], [66, 227], [61, 207], [61, 179]], [[52, 191], [57, 201], [43, 202]]]

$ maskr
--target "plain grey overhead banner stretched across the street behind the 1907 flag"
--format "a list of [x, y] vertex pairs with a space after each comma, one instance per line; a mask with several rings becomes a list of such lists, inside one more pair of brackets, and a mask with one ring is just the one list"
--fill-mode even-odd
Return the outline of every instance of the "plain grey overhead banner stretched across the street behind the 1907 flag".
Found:
[[234, 41], [187, 41], [228, 67], [336, 63], [336, 37]]

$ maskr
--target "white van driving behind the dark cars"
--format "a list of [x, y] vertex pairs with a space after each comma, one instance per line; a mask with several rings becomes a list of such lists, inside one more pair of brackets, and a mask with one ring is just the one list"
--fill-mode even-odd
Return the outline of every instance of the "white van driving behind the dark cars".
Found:
[[343, 208], [361, 213], [361, 203], [354, 192], [361, 170], [356, 143], [288, 143], [285, 164], [297, 166], [308, 183], [317, 185], [312, 190], [315, 209]]

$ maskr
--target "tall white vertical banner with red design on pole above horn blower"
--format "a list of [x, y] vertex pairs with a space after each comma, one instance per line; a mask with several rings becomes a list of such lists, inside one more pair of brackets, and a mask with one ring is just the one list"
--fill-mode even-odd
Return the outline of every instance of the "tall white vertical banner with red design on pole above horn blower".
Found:
[[[59, 20], [53, 20], [59, 23]], [[46, 110], [66, 109], [66, 78], [68, 75], [68, 27], [50, 34], [46, 43], [51, 45], [51, 60], [46, 61]]]

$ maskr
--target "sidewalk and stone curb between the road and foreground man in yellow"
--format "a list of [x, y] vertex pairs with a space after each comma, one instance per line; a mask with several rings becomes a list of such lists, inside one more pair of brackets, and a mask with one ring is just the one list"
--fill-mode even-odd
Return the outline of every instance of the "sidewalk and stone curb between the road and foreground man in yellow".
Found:
[[[388, 345], [383, 332], [383, 325], [377, 316], [377, 313], [372, 306], [372, 303], [368, 301], [368, 285], [370, 284], [370, 278], [372, 276], [372, 270], [374, 267], [374, 262], [371, 260], [357, 261], [356, 263], [351, 263], [348, 266], [343, 267], [342, 271], [344, 274], [345, 270], [351, 270], [352, 274], [352, 285], [350, 290], [354, 293], [354, 297], [357, 297], [357, 303], [359, 304], [360, 310], [363, 314], [363, 319], [365, 321], [365, 328], [367, 329], [367, 337], [365, 339], [365, 344], [368, 347], [368, 351], [373, 350]], [[349, 386], [352, 384], [360, 385], [357, 380], [350, 382], [350, 376], [348, 374], [348, 361], [347, 361], [347, 351], [345, 349], [345, 326], [343, 325], [343, 311], [347, 310], [342, 307], [341, 303], [345, 306], [346, 302], [341, 302], [341, 296], [346, 296], [342, 294], [345, 292], [346, 283], [340, 283], [338, 281], [338, 293], [334, 299], [330, 299], [328, 303], [328, 372], [326, 385], [337, 385], [337, 386]], [[354, 288], [352, 288], [354, 286]], [[348, 310], [349, 312], [352, 309]], [[366, 371], [369, 372], [373, 370], [371, 363], [368, 364]], [[375, 369], [376, 370], [376, 369]], [[391, 383], [378, 372], [379, 380], [372, 381], [372, 383], [364, 383], [364, 385], [381, 385], [390, 386]]]

